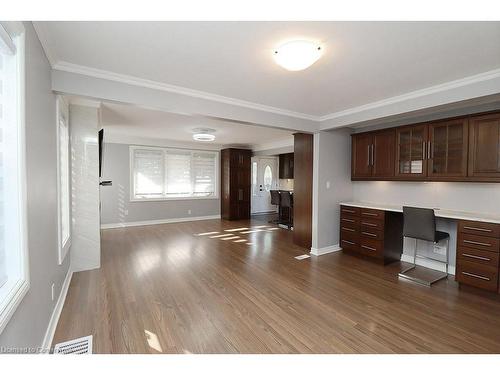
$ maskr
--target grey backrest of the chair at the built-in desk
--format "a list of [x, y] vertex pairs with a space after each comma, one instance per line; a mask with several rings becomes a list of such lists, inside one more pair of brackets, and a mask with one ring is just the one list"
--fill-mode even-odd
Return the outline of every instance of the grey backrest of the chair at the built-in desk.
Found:
[[403, 207], [403, 236], [435, 241], [436, 216], [430, 208]]

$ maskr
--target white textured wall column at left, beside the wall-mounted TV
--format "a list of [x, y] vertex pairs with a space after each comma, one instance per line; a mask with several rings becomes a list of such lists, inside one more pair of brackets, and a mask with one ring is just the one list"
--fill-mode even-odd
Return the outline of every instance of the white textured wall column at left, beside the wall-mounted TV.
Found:
[[70, 105], [72, 234], [75, 271], [99, 268], [99, 109]]

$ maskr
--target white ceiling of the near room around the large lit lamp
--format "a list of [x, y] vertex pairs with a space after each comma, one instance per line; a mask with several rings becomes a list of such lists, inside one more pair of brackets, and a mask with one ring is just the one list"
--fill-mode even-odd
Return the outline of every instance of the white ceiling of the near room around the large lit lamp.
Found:
[[[71, 63], [323, 116], [500, 68], [500, 22], [36, 22]], [[40, 32], [43, 31], [43, 32]], [[272, 50], [320, 41], [288, 72]]]

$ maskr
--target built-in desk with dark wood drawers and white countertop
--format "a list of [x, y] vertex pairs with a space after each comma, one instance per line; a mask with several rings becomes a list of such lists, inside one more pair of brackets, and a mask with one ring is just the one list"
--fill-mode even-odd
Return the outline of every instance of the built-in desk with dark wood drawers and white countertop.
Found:
[[[456, 220], [455, 278], [461, 284], [499, 291], [500, 215], [434, 208], [438, 218]], [[401, 259], [403, 207], [399, 205], [340, 203], [340, 247], [383, 261]]]

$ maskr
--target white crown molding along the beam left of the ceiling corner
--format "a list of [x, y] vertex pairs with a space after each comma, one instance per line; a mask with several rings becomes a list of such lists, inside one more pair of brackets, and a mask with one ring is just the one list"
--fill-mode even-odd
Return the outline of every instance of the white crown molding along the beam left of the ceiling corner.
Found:
[[282, 108], [271, 107], [264, 104], [258, 104], [253, 102], [248, 102], [246, 100], [230, 98], [227, 96], [212, 94], [205, 91], [193, 90], [186, 87], [170, 85], [167, 83], [161, 83], [157, 81], [152, 81], [144, 78], [138, 78], [135, 76], [130, 76], [126, 74], [119, 74], [110, 72], [107, 70], [101, 70], [96, 68], [90, 68], [83, 65], [77, 65], [68, 63], [66, 61], [58, 61], [53, 65], [54, 70], [60, 70], [68, 73], [81, 74], [84, 76], [106, 79], [109, 81], [125, 83], [128, 85], [146, 87], [154, 90], [167, 91], [170, 93], [186, 95], [194, 98], [200, 98], [205, 100], [211, 100], [214, 102], [235, 105], [239, 107], [245, 107], [250, 109], [255, 109], [263, 112], [275, 113], [282, 116], [295, 117], [303, 120], [318, 121], [318, 116], [309, 115], [306, 113], [294, 112]]

